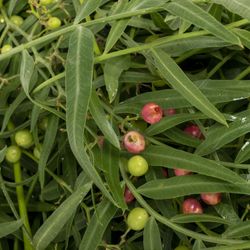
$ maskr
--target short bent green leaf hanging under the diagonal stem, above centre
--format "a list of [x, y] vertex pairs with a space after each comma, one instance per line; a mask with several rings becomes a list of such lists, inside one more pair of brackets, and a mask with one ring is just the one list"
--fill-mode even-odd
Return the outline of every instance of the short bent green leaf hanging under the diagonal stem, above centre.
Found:
[[116, 97], [121, 73], [129, 69], [130, 63], [130, 56], [116, 57], [105, 62], [104, 80], [110, 102], [113, 102]]

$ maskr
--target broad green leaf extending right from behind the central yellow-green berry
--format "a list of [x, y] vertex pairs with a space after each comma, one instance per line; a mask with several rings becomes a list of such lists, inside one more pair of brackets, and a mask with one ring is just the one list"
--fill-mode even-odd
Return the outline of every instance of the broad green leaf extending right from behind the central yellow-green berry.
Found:
[[216, 161], [169, 146], [150, 146], [142, 155], [147, 159], [150, 166], [183, 168], [231, 183], [246, 183], [235, 172], [225, 168]]

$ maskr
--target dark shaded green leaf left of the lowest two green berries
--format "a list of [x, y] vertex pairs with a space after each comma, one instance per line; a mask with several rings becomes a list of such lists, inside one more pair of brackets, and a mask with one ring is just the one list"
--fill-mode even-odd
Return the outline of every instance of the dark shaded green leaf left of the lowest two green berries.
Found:
[[127, 208], [120, 183], [119, 151], [104, 141], [102, 149], [102, 171], [114, 200], [123, 211]]

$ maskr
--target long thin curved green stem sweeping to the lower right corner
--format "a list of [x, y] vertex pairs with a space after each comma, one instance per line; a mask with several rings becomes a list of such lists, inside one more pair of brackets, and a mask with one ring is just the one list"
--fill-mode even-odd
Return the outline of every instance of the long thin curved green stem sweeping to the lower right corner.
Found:
[[144, 207], [147, 210], [147, 212], [151, 216], [153, 216], [156, 220], [158, 220], [162, 224], [170, 227], [174, 231], [185, 234], [185, 235], [187, 235], [189, 237], [192, 237], [194, 239], [203, 240], [203, 241], [206, 241], [206, 242], [225, 244], [225, 245], [234, 245], [234, 244], [246, 243], [246, 241], [243, 241], [243, 240], [224, 239], [224, 238], [221, 238], [221, 237], [207, 236], [207, 235], [204, 235], [204, 234], [196, 233], [194, 231], [191, 231], [189, 229], [186, 229], [186, 228], [184, 228], [182, 226], [179, 226], [179, 225], [171, 222], [169, 219], [167, 219], [166, 217], [164, 217], [161, 214], [157, 213], [150, 205], [148, 205], [148, 203], [137, 192], [135, 186], [132, 184], [132, 182], [127, 177], [127, 174], [126, 174], [126, 172], [125, 172], [125, 170], [123, 169], [122, 166], [120, 166], [120, 170], [121, 170], [122, 178], [124, 179], [124, 181], [125, 181], [127, 187], [129, 188], [129, 190], [132, 192], [132, 194], [136, 198], [137, 202], [142, 207]]

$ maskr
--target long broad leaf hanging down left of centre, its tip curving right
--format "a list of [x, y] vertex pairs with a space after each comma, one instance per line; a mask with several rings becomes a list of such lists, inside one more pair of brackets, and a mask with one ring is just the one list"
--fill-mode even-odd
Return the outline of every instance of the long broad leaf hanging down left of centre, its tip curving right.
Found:
[[77, 161], [103, 194], [111, 198], [84, 149], [83, 135], [92, 92], [93, 43], [93, 34], [83, 27], [78, 27], [70, 37], [65, 77], [66, 127], [69, 144]]

